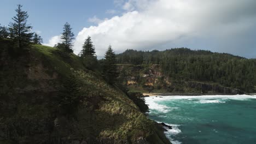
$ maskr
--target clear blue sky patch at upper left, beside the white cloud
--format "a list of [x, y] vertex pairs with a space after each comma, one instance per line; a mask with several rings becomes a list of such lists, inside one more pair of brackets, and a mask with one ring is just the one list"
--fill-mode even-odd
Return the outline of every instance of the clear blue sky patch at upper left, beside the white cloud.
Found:
[[107, 13], [110, 9], [119, 9], [112, 0], [94, 1], [63, 1], [63, 0], [1, 0], [0, 23], [8, 26], [15, 15], [17, 4], [23, 5], [23, 10], [28, 11], [28, 23], [31, 23], [34, 31], [40, 31], [44, 41], [48, 41], [54, 35], [62, 32], [63, 25], [68, 22], [77, 34], [83, 27], [95, 25], [90, 22], [91, 17], [112, 17]]

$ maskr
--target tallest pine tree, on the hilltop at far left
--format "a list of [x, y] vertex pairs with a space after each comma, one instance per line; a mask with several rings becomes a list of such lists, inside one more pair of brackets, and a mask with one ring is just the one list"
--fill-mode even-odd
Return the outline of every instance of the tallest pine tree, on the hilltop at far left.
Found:
[[31, 41], [33, 33], [31, 33], [32, 26], [27, 25], [28, 14], [27, 11], [22, 11], [22, 5], [18, 5], [16, 9], [16, 16], [12, 19], [14, 22], [10, 22], [10, 38], [16, 42], [19, 48], [28, 45]]

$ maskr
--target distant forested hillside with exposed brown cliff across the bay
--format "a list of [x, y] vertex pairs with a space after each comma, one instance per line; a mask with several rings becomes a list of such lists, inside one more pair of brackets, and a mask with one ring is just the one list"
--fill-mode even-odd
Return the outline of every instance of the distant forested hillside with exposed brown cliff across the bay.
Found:
[[225, 94], [256, 91], [255, 59], [187, 48], [126, 50], [117, 59], [120, 81], [139, 91]]

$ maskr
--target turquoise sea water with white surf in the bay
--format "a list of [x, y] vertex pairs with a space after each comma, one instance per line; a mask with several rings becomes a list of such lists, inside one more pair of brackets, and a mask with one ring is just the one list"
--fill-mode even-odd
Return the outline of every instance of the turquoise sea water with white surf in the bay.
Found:
[[172, 143], [256, 143], [256, 96], [145, 98], [149, 118], [172, 125]]

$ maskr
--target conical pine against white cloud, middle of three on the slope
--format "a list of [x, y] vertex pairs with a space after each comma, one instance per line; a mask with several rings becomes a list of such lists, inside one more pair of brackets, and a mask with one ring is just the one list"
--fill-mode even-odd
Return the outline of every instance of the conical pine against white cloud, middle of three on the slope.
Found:
[[90, 36], [88, 36], [88, 38], [84, 41], [83, 49], [80, 53], [81, 57], [95, 56], [95, 47], [92, 44]]

